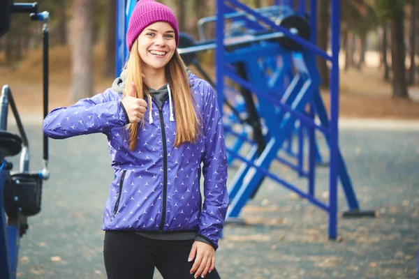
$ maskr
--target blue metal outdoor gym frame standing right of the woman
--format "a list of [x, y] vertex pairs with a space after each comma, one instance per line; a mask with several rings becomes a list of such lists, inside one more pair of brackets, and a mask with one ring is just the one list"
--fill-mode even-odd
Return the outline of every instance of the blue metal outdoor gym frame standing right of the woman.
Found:
[[[300, 16], [305, 15], [305, 1], [299, 1]], [[228, 209], [228, 218], [237, 218], [243, 206], [252, 197], [255, 190], [260, 186], [261, 181], [268, 177], [277, 183], [293, 190], [295, 193], [304, 197], [323, 209], [329, 216], [328, 235], [330, 239], [337, 237], [337, 192], [338, 179], [346, 196], [349, 210], [344, 216], [374, 216], [374, 212], [360, 211], [358, 200], [353, 190], [350, 176], [346, 169], [344, 159], [339, 151], [339, 32], [340, 32], [340, 1], [331, 1], [331, 47], [332, 54], [319, 49], [316, 46], [316, 6], [317, 1], [312, 0], [309, 3], [309, 22], [311, 35], [309, 39], [302, 38], [302, 30], [293, 32], [293, 27], [285, 27], [284, 24], [277, 24], [269, 17], [265, 17], [255, 10], [236, 0], [217, 1], [217, 19], [216, 19], [216, 91], [219, 94], [219, 101], [222, 105], [223, 92], [225, 91], [224, 80], [228, 78], [236, 84], [248, 89], [258, 100], [260, 110], [258, 116], [265, 123], [267, 128], [265, 137], [265, 147], [262, 152], [256, 148], [251, 149], [247, 157], [241, 156], [236, 150], [228, 149], [230, 156], [241, 160], [243, 163], [230, 185], [230, 207]], [[284, 5], [284, 3], [278, 3]], [[288, 5], [292, 5], [288, 1]], [[243, 48], [237, 48], [233, 51], [226, 51], [225, 15], [242, 11], [250, 17], [265, 25], [271, 34], [278, 33], [279, 38], [287, 40], [274, 43], [265, 43], [263, 45], [250, 45]], [[301, 32], [301, 33], [300, 33]], [[265, 32], [266, 36], [266, 32]], [[255, 36], [256, 37], [256, 36]], [[288, 42], [292, 40], [300, 45], [300, 49], [293, 47]], [[285, 43], [286, 42], [286, 43]], [[291, 46], [290, 46], [291, 45]], [[295, 70], [295, 75], [288, 84], [283, 93], [271, 92], [274, 88], [263, 75], [263, 71], [256, 65], [258, 59], [263, 56], [290, 56]], [[321, 99], [318, 86], [320, 76], [316, 68], [316, 56], [326, 59], [330, 62], [330, 114], [325, 110], [323, 100]], [[231, 70], [231, 63], [244, 63], [248, 77], [243, 79], [235, 71]], [[311, 110], [307, 113], [306, 107], [311, 105]], [[313, 121], [314, 113], [320, 120], [318, 125]], [[284, 181], [276, 174], [269, 172], [268, 169], [273, 160], [277, 158], [279, 151], [284, 148], [288, 137], [293, 134], [295, 123], [299, 121], [304, 126], [309, 127], [309, 170], [307, 173], [309, 186], [306, 191], [297, 188], [297, 186]], [[315, 195], [315, 140], [314, 130], [324, 134], [330, 151], [330, 177], [329, 177], [329, 200], [325, 204]], [[302, 153], [302, 151], [300, 151]]]

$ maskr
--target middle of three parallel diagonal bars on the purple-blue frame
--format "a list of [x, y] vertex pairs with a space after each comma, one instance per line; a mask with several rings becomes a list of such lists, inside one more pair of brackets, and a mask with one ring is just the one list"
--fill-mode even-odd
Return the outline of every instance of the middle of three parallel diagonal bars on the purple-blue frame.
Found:
[[322, 133], [325, 133], [325, 135], [327, 135], [329, 133], [328, 129], [325, 129], [323, 126], [318, 126], [316, 123], [314, 123], [314, 121], [309, 119], [304, 114], [302, 114], [300, 112], [296, 112], [295, 110], [293, 110], [292, 107], [290, 107], [288, 105], [282, 104], [276, 98], [272, 98], [272, 96], [267, 95], [267, 93], [258, 89], [256, 86], [253, 86], [253, 85], [249, 84], [249, 82], [247, 82], [246, 80], [243, 80], [241, 77], [237, 76], [235, 73], [231, 72], [230, 70], [226, 70], [226, 75], [231, 80], [233, 80], [233, 82], [236, 82], [237, 84], [240, 84], [240, 86], [243, 86], [243, 87], [249, 89], [253, 93], [257, 93], [258, 96], [262, 96], [263, 98], [267, 99], [270, 103], [272, 103], [274, 105], [277, 105], [277, 106], [281, 107], [281, 109], [286, 110], [287, 112], [292, 114], [293, 116], [296, 116], [298, 119], [303, 121], [304, 124], [306, 124], [307, 126], [312, 126], [316, 129], [320, 130]]

